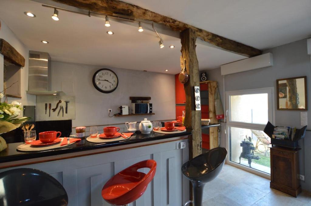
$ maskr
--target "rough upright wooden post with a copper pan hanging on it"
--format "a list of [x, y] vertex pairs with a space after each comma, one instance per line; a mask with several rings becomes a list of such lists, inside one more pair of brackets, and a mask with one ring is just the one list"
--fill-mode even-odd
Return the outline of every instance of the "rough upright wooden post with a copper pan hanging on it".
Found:
[[193, 29], [185, 29], [180, 33], [181, 53], [186, 64], [186, 72], [189, 80], [184, 84], [186, 93], [186, 116], [184, 125], [192, 128], [192, 135], [189, 146], [189, 159], [202, 154], [202, 125], [201, 111], [195, 110], [194, 105], [194, 86], [200, 86], [199, 64], [195, 51], [197, 35]]

